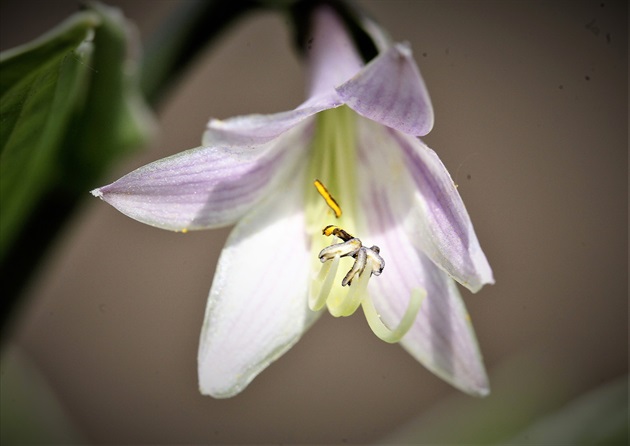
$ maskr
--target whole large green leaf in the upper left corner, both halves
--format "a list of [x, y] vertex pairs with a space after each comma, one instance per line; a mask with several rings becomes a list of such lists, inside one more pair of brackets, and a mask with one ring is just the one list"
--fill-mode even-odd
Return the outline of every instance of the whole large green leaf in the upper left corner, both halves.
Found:
[[77, 203], [151, 133], [136, 37], [118, 9], [93, 2], [0, 54], [3, 315]]

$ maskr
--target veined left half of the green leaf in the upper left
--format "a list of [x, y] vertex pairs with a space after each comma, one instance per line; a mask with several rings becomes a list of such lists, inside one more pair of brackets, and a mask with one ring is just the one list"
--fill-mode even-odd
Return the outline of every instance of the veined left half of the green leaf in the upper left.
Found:
[[0, 55], [0, 258], [45, 187], [81, 88], [99, 24], [85, 12], [54, 34]]

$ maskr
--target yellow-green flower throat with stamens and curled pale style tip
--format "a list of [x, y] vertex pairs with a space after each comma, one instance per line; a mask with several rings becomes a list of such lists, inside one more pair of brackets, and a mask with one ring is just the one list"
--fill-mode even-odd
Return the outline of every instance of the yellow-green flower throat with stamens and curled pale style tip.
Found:
[[[351, 235], [361, 229], [357, 222], [362, 220], [358, 215], [355, 119], [356, 115], [346, 106], [327, 110], [317, 117], [307, 175], [315, 187], [306, 186], [306, 229], [313, 262], [309, 307], [318, 311], [326, 305], [330, 314], [340, 317], [350, 316], [362, 306], [372, 331], [393, 343], [413, 325], [426, 293], [419, 290], [412, 293], [395, 329], [381, 321], [369, 296], [369, 279], [383, 272], [385, 261], [378, 246], [364, 246]], [[319, 178], [330, 186], [330, 191]], [[330, 224], [333, 219], [338, 224]], [[330, 236], [333, 240], [328, 245], [326, 237]]]

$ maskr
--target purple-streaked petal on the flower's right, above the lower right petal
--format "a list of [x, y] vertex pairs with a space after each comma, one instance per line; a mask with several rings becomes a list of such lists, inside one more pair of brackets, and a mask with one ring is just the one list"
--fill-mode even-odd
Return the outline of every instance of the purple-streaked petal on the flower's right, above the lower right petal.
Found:
[[374, 122], [357, 125], [363, 176], [385, 191], [411, 242], [473, 292], [494, 283], [466, 207], [437, 154], [419, 139]]

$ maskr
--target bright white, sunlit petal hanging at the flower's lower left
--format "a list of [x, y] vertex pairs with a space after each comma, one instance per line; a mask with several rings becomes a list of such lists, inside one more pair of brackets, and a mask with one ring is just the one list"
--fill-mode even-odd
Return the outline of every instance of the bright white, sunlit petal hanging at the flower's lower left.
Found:
[[201, 393], [241, 392], [315, 320], [303, 184], [266, 200], [236, 225], [221, 253], [199, 344]]

